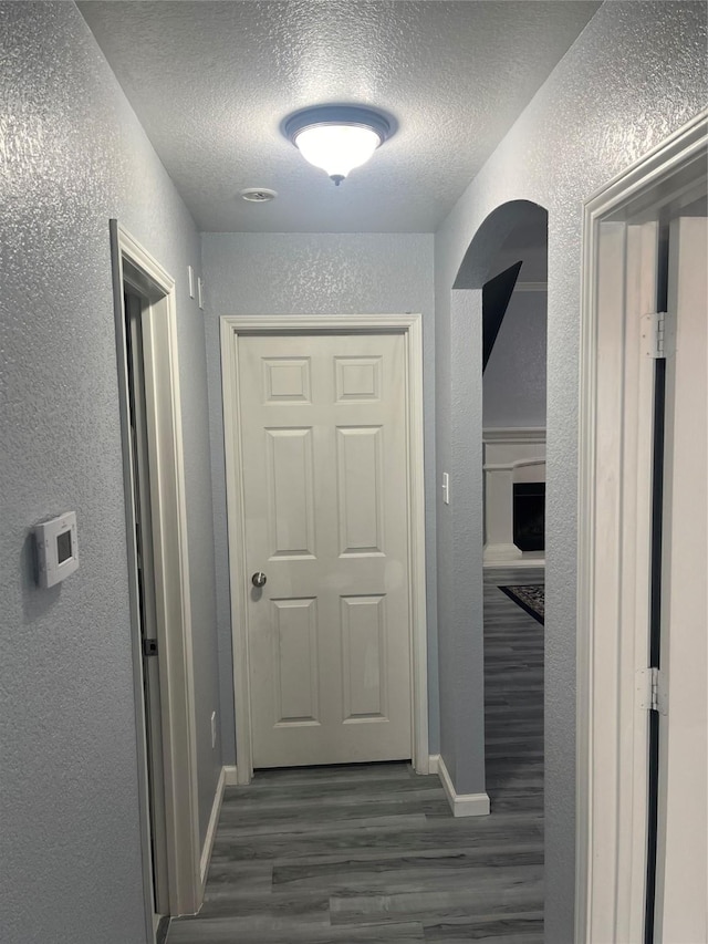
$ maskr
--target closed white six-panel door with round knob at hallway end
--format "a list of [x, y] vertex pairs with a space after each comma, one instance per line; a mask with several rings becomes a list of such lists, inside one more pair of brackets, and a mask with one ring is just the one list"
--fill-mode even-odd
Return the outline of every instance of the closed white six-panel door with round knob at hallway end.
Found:
[[412, 756], [404, 344], [238, 340], [254, 767]]

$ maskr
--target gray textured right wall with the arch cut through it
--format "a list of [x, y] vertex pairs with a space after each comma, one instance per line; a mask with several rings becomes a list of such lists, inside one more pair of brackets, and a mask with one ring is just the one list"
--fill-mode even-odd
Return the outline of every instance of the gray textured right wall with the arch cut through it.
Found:
[[[595, 189], [705, 107], [706, 6], [691, 2], [605, 3], [436, 236], [436, 383], [438, 474], [455, 458], [460, 414], [481, 425], [481, 401], [460, 400], [452, 353], [469, 343], [451, 305], [451, 289], [475, 234], [494, 208], [532, 200], [549, 210], [548, 295], [548, 533], [546, 533], [546, 926], [548, 944], [573, 938], [575, 854], [575, 579], [577, 480], [577, 356], [582, 204]], [[497, 234], [498, 235], [498, 234]], [[492, 234], [492, 236], [494, 236]], [[480, 287], [498, 248], [476, 243], [458, 284]], [[475, 311], [471, 312], [475, 317]], [[470, 363], [472, 355], [470, 352]], [[478, 444], [466, 444], [478, 468]], [[455, 469], [450, 469], [456, 471]], [[469, 551], [481, 544], [481, 471], [473, 479]], [[448, 560], [456, 516], [438, 508], [438, 573], [469, 579], [465, 556]], [[468, 522], [469, 525], [469, 522]], [[447, 577], [446, 579], [449, 579]], [[444, 653], [468, 633], [481, 633], [481, 573], [464, 619], [438, 593], [440, 691], [459, 684]], [[449, 674], [448, 674], [449, 673]], [[471, 665], [467, 685], [481, 683]], [[454, 696], [450, 696], [454, 697]], [[465, 694], [459, 704], [467, 707]], [[441, 744], [447, 744], [445, 712]], [[473, 751], [473, 747], [470, 748]], [[446, 758], [447, 759], [447, 758]], [[459, 766], [459, 756], [456, 758]], [[455, 759], [451, 759], [455, 765]], [[459, 782], [458, 782], [459, 787]]]

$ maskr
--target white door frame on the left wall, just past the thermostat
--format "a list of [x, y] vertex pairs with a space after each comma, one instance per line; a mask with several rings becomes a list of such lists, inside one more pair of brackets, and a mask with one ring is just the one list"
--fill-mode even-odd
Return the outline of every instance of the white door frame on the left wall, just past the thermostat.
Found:
[[[123, 478], [133, 629], [133, 681], [138, 753], [138, 797], [148, 941], [154, 940], [147, 743], [135, 540], [124, 283], [145, 299], [143, 321], [145, 403], [157, 610], [157, 640], [170, 915], [192, 914], [202, 900], [197, 747], [191, 647], [187, 507], [181, 439], [175, 280], [118, 224], [111, 220]], [[129, 270], [126, 277], [125, 269]]]

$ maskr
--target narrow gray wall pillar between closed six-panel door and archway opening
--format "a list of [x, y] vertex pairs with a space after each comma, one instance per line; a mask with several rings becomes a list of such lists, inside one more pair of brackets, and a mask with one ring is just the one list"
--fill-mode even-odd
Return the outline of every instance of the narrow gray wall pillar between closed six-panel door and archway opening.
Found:
[[[458, 793], [485, 790], [485, 654], [479, 587], [482, 573], [481, 504], [477, 479], [482, 465], [481, 291], [455, 292], [438, 377], [436, 411], [438, 478], [450, 476], [450, 504], [437, 494], [438, 658], [440, 754]], [[436, 313], [436, 332], [438, 320]], [[455, 335], [455, 343], [450, 338]], [[441, 423], [440, 417], [451, 422]], [[440, 435], [441, 434], [441, 435]]]

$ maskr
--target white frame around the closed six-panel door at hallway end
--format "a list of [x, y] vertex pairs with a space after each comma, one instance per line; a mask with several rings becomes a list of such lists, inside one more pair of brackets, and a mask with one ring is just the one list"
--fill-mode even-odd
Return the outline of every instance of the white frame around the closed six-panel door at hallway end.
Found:
[[[227, 517], [230, 549], [236, 768], [239, 784], [253, 776], [248, 651], [244, 497], [238, 386], [241, 334], [403, 334], [406, 357], [408, 426], [408, 572], [412, 624], [413, 763], [428, 772], [428, 672], [425, 600], [425, 492], [423, 474], [423, 330], [419, 314], [222, 315], [221, 374], [226, 448]], [[233, 343], [236, 342], [236, 343]]]

